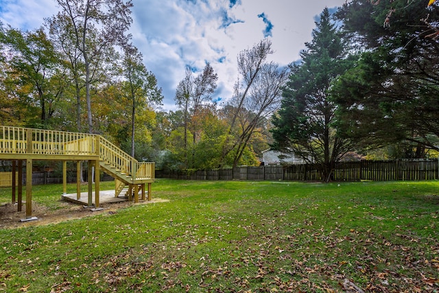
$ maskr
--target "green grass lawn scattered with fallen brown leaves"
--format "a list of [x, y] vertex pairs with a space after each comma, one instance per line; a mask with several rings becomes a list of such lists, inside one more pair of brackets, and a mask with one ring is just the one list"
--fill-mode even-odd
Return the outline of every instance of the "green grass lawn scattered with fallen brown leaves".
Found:
[[[60, 190], [34, 201], [62, 209]], [[152, 190], [169, 202], [0, 230], [0, 292], [439, 292], [439, 182]]]

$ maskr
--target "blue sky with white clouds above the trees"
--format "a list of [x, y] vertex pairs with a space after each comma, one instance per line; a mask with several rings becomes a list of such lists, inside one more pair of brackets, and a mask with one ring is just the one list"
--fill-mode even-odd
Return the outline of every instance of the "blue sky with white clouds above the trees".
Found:
[[[163, 109], [174, 110], [176, 86], [186, 65], [218, 74], [215, 99], [228, 99], [237, 79], [239, 51], [272, 40], [270, 61], [298, 60], [311, 40], [316, 16], [346, 0], [132, 0], [133, 43], [163, 89]], [[54, 0], [0, 0], [0, 21], [33, 30], [58, 11]]]

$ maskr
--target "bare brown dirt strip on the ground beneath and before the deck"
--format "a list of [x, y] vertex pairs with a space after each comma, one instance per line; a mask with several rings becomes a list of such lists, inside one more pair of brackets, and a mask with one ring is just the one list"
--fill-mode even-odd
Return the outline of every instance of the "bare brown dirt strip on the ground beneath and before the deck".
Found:
[[[154, 198], [151, 201], [141, 201], [137, 204], [150, 204], [154, 202], [165, 202], [167, 200], [161, 200], [160, 198]], [[21, 219], [26, 218], [26, 206], [23, 204], [21, 211], [17, 211], [17, 204], [3, 204], [0, 206], [0, 229], [5, 228], [21, 228], [27, 226], [42, 226], [48, 224], [56, 224], [68, 220], [75, 220], [85, 217], [91, 217], [93, 215], [99, 215], [102, 213], [117, 213], [119, 209], [131, 207], [134, 202], [115, 202], [108, 204], [100, 204], [102, 210], [92, 211], [91, 209], [84, 208], [82, 205], [73, 204], [71, 202], [62, 202], [61, 207], [56, 210], [50, 210], [45, 206], [42, 206], [36, 202], [32, 202], [32, 216], [38, 218], [38, 220], [21, 222]]]

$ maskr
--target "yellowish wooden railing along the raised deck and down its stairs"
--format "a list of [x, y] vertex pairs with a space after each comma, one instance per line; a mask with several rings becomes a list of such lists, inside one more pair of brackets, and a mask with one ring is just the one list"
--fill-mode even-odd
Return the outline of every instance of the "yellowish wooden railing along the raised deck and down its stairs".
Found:
[[0, 126], [0, 154], [99, 156], [132, 180], [154, 178], [154, 163], [138, 162], [96, 134]]

